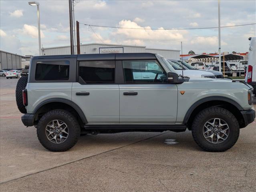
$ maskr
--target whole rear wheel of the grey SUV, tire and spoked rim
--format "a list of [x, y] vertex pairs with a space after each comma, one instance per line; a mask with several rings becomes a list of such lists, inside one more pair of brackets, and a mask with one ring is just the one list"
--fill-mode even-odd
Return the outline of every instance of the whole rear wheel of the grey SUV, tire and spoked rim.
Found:
[[44, 114], [36, 129], [42, 146], [54, 152], [67, 151], [72, 148], [81, 133], [77, 119], [70, 112], [60, 109]]

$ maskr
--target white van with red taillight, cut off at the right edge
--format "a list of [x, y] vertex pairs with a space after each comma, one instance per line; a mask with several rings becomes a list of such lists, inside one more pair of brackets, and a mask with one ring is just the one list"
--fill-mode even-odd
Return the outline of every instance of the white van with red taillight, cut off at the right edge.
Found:
[[250, 47], [248, 54], [248, 66], [246, 68], [245, 82], [250, 84], [256, 94], [256, 37], [250, 37]]

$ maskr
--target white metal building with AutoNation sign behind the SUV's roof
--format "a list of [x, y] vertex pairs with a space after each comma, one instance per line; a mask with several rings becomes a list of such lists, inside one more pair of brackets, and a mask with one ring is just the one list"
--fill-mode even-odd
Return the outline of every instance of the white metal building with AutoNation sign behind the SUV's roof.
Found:
[[[153, 49], [146, 46], [131, 46], [117, 44], [82, 44], [80, 45], [81, 54], [106, 54], [106, 53], [156, 53], [165, 58], [179, 59], [180, 50]], [[70, 46], [42, 48], [42, 55], [68, 55]], [[76, 53], [76, 48], [75, 48]]]

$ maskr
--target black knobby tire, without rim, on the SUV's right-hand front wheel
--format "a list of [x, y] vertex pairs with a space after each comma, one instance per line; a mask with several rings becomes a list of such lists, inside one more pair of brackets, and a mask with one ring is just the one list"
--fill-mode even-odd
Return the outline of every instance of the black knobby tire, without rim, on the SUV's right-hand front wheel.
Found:
[[[204, 138], [203, 127], [204, 124], [211, 118], [221, 118], [227, 122], [230, 133], [226, 140], [221, 143], [213, 144], [208, 142], [206, 138]], [[210, 107], [199, 112], [194, 121], [192, 123], [192, 136], [195, 142], [200, 146], [203, 150], [209, 152], [223, 152], [230, 149], [239, 136], [239, 124], [236, 117], [228, 110], [220, 107]]]

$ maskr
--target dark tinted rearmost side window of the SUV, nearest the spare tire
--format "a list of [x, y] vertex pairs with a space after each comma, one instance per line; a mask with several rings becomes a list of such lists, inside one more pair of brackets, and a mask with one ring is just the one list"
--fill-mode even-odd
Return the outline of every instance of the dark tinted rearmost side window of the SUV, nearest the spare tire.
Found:
[[35, 80], [69, 80], [69, 61], [37, 62]]

